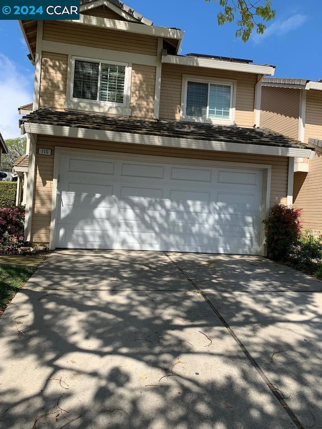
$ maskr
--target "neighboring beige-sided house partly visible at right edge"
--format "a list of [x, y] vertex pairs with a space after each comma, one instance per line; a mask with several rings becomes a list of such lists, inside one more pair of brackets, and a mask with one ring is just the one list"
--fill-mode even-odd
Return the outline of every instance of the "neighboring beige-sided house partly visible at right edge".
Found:
[[322, 235], [322, 82], [265, 78], [261, 126], [315, 150], [312, 160], [297, 158], [293, 206], [303, 209], [303, 227]]

